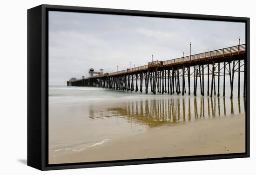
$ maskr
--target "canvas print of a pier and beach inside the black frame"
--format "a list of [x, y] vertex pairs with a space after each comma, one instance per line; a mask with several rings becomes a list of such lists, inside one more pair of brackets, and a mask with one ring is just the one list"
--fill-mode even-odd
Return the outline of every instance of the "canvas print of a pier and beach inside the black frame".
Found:
[[245, 152], [245, 23], [48, 12], [48, 163]]

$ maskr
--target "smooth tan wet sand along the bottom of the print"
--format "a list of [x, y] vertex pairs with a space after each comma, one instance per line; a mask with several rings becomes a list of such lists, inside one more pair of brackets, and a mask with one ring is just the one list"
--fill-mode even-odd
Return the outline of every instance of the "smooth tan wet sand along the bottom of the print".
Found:
[[170, 123], [89, 147], [49, 151], [49, 164], [241, 153], [245, 114]]

